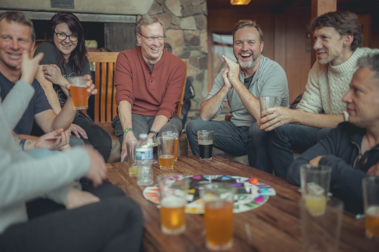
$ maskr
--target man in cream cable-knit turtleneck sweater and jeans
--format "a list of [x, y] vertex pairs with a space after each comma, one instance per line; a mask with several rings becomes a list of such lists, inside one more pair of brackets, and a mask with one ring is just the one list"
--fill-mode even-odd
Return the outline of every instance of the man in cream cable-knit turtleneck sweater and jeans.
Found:
[[362, 29], [356, 14], [334, 11], [309, 25], [317, 61], [308, 75], [304, 95], [296, 109], [273, 107], [263, 111], [260, 129], [269, 131], [271, 164], [282, 178], [293, 161], [292, 150], [303, 152], [338, 123], [349, 120], [343, 95], [349, 90], [361, 56], [379, 52], [362, 47]]

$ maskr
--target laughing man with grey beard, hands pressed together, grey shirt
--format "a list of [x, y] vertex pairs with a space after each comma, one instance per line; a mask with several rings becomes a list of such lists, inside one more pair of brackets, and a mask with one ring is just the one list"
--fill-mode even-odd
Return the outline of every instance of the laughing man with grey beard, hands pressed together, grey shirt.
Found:
[[[263, 32], [254, 20], [238, 21], [232, 35], [237, 63], [222, 56], [227, 67], [218, 74], [200, 105], [201, 120], [187, 124], [189, 145], [192, 153], [198, 155], [197, 131], [213, 130], [213, 146], [235, 156], [247, 154], [250, 166], [272, 172], [266, 152], [266, 132], [257, 125], [259, 96], [277, 96], [276, 106], [288, 107], [287, 77], [278, 63], [261, 55]], [[231, 121], [211, 120], [218, 117], [226, 101]]]

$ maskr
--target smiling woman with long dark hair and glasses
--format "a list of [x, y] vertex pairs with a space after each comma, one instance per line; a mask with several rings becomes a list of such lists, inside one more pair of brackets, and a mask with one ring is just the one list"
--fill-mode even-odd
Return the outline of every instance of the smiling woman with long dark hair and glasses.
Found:
[[[50, 19], [45, 33], [47, 43], [35, 51], [44, 53], [40, 62], [37, 80], [45, 90], [47, 99], [56, 113], [66, 102], [67, 77], [90, 74], [84, 31], [79, 19], [72, 13], [56, 13]], [[108, 160], [112, 142], [110, 135], [100, 126], [88, 120], [81, 111], [75, 115], [70, 127], [72, 134], [90, 144]]]

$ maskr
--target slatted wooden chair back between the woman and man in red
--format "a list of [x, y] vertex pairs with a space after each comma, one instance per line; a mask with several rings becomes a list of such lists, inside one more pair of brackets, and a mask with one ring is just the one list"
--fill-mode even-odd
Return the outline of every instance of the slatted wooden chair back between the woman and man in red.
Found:
[[117, 115], [116, 88], [114, 88], [114, 70], [118, 52], [88, 52], [89, 62], [95, 62], [94, 123], [111, 122]]

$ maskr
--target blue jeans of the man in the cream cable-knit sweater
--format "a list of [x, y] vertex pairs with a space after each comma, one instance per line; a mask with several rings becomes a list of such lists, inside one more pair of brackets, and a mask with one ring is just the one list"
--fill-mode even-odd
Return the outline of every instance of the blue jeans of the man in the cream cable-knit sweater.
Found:
[[326, 137], [330, 129], [289, 123], [269, 131], [267, 150], [275, 175], [287, 178], [288, 167], [293, 162], [292, 150], [303, 153]]

